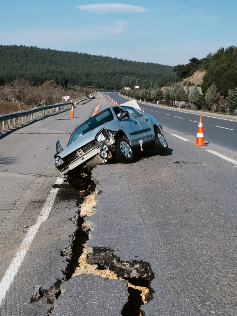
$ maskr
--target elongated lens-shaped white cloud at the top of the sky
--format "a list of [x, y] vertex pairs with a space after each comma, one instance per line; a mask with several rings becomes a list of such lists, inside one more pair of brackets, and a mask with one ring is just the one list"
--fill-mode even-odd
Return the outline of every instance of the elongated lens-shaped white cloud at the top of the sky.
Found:
[[98, 3], [98, 4], [86, 4], [78, 5], [77, 9], [88, 11], [90, 13], [113, 13], [113, 12], [145, 12], [148, 9], [143, 7], [124, 4], [124, 3]]

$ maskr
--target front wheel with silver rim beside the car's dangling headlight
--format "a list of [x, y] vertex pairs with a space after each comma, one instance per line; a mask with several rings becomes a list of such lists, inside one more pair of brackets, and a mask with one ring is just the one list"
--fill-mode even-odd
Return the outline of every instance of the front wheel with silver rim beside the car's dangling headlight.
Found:
[[120, 136], [115, 140], [115, 157], [121, 163], [129, 163], [133, 161], [133, 149], [131, 148], [127, 137]]

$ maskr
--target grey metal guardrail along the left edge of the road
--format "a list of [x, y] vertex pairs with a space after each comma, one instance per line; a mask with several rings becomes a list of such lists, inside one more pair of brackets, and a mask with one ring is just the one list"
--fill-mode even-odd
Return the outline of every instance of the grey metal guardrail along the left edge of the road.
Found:
[[[80, 103], [84, 104], [88, 102], [89, 100], [91, 99], [86, 98], [83, 100], [79, 100], [78, 102], [76, 102], [76, 105]], [[58, 104], [35, 107], [33, 109], [24, 110], [21, 112], [2, 114], [0, 115], [0, 131], [7, 130], [11, 127], [14, 127], [22, 123], [26, 123], [33, 119], [38, 119], [39, 117], [44, 116], [44, 115], [65, 111], [67, 109], [70, 109], [72, 105], [74, 105], [73, 102], [58, 103]]]

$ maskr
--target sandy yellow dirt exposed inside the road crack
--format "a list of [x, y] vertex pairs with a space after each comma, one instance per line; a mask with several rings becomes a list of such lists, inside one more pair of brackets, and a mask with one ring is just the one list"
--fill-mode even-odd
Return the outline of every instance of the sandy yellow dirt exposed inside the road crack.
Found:
[[[93, 215], [93, 207], [95, 206], [95, 192], [85, 197], [83, 203], [81, 204], [81, 212], [80, 216], [91, 216]], [[87, 226], [86, 223], [83, 223], [82, 226]], [[128, 282], [127, 280], [123, 279], [122, 277], [118, 277], [117, 274], [115, 274], [113, 271], [110, 271], [109, 269], [99, 270], [97, 264], [88, 264], [86, 261], [86, 247], [85, 245], [81, 257], [78, 259], [79, 266], [76, 268], [75, 272], [73, 273], [72, 277], [80, 276], [83, 274], [93, 274], [100, 276], [104, 279], [113, 279], [117, 280], [120, 279], [122, 281], [127, 282], [128, 287], [131, 287], [133, 289], [137, 289], [141, 292], [141, 297], [143, 304], [147, 303], [146, 301], [146, 295], [149, 293], [149, 289], [143, 286], [135, 286]], [[141, 313], [140, 313], [141, 315]]]

